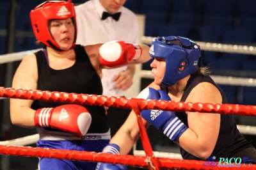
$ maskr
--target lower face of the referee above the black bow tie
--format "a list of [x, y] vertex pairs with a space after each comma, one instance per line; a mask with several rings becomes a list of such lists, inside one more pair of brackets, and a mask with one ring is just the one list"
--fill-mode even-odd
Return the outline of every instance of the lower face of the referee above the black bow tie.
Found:
[[100, 0], [102, 6], [109, 13], [116, 13], [125, 3], [126, 0]]

